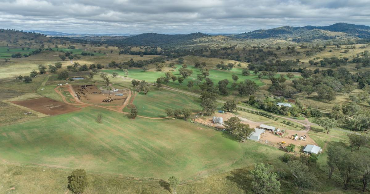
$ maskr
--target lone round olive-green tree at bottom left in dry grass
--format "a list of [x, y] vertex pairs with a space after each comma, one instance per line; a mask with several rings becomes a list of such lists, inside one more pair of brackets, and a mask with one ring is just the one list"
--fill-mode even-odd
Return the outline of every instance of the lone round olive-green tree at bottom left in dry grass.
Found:
[[68, 176], [68, 189], [75, 194], [84, 193], [87, 187], [87, 174], [83, 169], [72, 171], [71, 176]]

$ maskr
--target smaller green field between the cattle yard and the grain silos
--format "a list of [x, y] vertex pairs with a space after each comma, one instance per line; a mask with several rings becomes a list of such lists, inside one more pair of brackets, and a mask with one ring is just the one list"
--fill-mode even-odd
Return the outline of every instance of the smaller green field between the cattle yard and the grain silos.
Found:
[[[193, 112], [202, 110], [199, 99], [170, 91], [150, 91], [147, 95], [140, 92], [133, 103], [138, 108], [138, 115], [149, 117], [166, 117], [166, 108], [188, 108]], [[126, 108], [125, 111], [128, 112], [129, 109]]]

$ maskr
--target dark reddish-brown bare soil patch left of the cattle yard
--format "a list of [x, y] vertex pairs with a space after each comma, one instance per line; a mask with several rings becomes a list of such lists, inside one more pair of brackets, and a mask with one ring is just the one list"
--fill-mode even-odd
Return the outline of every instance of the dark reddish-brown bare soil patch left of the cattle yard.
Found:
[[13, 101], [11, 103], [27, 107], [37, 112], [41, 112], [45, 115], [60, 115], [80, 109], [75, 106], [67, 105], [66, 103], [55, 101], [50, 98], [36, 98], [26, 101]]

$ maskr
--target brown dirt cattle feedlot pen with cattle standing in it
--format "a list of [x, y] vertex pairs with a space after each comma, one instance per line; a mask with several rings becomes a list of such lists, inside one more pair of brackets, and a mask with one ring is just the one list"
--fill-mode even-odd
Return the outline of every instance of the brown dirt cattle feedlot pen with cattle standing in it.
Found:
[[[74, 92], [80, 96], [82, 102], [103, 105], [121, 105], [129, 95], [128, 89], [120, 89], [117, 92], [103, 93], [96, 85], [73, 85]], [[123, 96], [116, 96], [116, 93], [123, 93]], [[112, 102], [103, 102], [111, 97]]]

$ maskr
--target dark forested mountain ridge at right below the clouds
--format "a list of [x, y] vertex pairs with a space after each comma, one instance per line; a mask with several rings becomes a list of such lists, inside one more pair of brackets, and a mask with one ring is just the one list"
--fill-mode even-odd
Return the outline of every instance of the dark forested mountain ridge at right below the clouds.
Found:
[[312, 25], [306, 25], [304, 27], [282, 26], [268, 30], [255, 30], [248, 33], [236, 34], [233, 37], [246, 39], [275, 38], [275, 37], [295, 38], [295, 36], [300, 37], [300, 35], [302, 34], [309, 35], [310, 33], [312, 33], [312, 38], [326, 37], [324, 33], [320, 34], [320, 32], [317, 30], [341, 32], [359, 38], [370, 38], [370, 26], [347, 23], [336, 23], [328, 26], [312, 26]]

